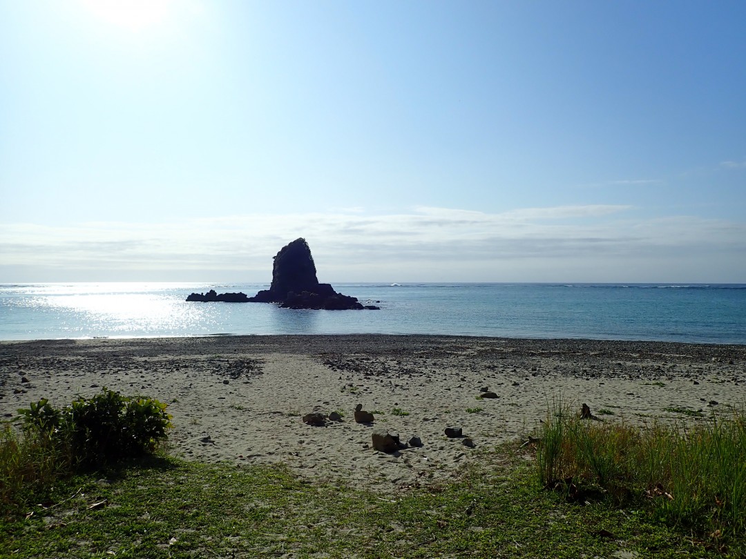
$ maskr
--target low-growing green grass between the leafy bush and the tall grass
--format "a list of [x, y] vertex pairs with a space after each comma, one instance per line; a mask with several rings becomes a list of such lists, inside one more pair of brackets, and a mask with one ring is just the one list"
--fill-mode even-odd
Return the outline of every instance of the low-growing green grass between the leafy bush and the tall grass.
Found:
[[110, 483], [97, 481], [100, 473], [69, 479], [51, 508], [5, 519], [0, 556], [718, 556], [645, 509], [581, 506], [538, 490], [532, 468], [515, 446], [502, 446], [456, 482], [381, 499], [299, 479], [283, 467], [151, 459], [107, 474]]

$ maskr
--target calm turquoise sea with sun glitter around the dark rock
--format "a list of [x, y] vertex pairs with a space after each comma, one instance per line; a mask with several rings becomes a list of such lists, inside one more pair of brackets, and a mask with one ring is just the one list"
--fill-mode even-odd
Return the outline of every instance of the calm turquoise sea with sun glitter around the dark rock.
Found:
[[746, 285], [336, 283], [379, 311], [186, 303], [266, 284], [0, 284], [0, 339], [446, 334], [746, 344]]

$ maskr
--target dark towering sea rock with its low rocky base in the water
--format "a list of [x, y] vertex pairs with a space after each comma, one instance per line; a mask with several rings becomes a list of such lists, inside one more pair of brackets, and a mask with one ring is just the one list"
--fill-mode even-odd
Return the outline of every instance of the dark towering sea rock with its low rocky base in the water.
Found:
[[334, 291], [328, 283], [319, 283], [316, 265], [305, 239], [295, 239], [280, 249], [272, 266], [272, 285], [254, 297], [243, 293], [192, 293], [187, 301], [223, 301], [225, 303], [277, 303], [283, 309], [363, 310], [379, 309], [363, 305], [357, 297]]

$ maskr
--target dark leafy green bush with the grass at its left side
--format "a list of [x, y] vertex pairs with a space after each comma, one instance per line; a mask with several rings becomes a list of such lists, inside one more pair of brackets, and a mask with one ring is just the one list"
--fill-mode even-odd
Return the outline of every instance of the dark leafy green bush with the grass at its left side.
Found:
[[46, 398], [19, 409], [19, 428], [0, 426], [0, 514], [46, 500], [57, 479], [81, 467], [155, 452], [172, 427], [166, 404], [104, 388], [54, 408]]

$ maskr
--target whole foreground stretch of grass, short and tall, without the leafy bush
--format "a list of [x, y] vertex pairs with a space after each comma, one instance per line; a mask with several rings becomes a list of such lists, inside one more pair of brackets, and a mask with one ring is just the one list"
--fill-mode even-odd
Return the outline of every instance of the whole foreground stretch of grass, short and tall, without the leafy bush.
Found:
[[7, 425], [0, 557], [746, 556], [743, 411], [639, 429], [557, 403], [543, 425], [535, 451], [385, 493], [152, 455], [81, 472]]

